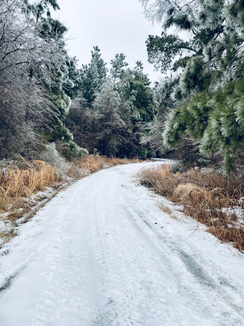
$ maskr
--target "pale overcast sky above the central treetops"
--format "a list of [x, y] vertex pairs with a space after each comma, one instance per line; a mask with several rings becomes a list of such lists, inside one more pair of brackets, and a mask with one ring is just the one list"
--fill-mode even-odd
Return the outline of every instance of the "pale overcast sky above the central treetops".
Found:
[[152, 82], [158, 80], [147, 62], [145, 40], [149, 34], [160, 35], [159, 25], [152, 26], [138, 0], [58, 0], [61, 10], [53, 14], [69, 29], [69, 53], [88, 64], [91, 50], [98, 45], [103, 59], [109, 63], [116, 53], [124, 53], [129, 66], [141, 60]]

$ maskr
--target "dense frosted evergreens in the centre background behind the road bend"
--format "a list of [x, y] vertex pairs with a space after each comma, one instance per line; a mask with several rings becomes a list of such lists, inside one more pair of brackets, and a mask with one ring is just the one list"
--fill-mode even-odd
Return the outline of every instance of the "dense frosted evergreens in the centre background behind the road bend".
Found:
[[80, 72], [80, 96], [66, 118], [77, 144], [106, 156], [150, 156], [140, 140], [143, 123], [154, 118], [155, 101], [142, 63], [131, 69], [121, 53], [108, 69], [95, 46], [90, 64]]

